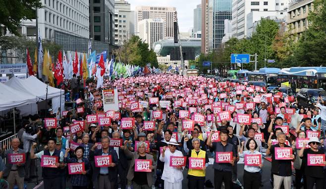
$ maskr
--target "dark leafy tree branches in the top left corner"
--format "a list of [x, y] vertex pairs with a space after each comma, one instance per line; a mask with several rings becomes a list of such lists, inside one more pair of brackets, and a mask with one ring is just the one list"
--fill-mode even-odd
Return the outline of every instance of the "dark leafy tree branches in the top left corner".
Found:
[[[35, 19], [36, 8], [42, 8], [41, 0], [0, 0], [0, 26], [3, 33], [8, 29], [12, 34], [19, 36], [17, 28], [22, 19]], [[3, 34], [0, 30], [0, 36]]]

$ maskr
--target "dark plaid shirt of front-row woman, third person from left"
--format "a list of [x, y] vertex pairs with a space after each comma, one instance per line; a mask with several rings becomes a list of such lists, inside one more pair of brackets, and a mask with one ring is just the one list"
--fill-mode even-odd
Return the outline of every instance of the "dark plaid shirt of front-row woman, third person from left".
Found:
[[[65, 163], [78, 163], [77, 158], [69, 158], [65, 157], [64, 158]], [[89, 184], [89, 180], [87, 175], [89, 174], [91, 170], [91, 164], [87, 158], [82, 158], [82, 162], [85, 164], [85, 171], [87, 172], [86, 175], [83, 174], [76, 174], [76, 175], [71, 175], [71, 185], [72, 186], [78, 186], [78, 187], [86, 187]]]

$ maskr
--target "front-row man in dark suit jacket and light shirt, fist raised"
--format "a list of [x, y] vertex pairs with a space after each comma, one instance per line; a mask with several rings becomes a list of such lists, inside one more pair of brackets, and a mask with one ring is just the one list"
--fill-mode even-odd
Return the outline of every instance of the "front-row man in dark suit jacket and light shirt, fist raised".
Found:
[[102, 149], [96, 149], [98, 143], [93, 145], [90, 151], [91, 159], [93, 160], [94, 156], [111, 155], [112, 163], [109, 164], [109, 167], [95, 167], [93, 172], [93, 181], [98, 181], [98, 189], [113, 189], [117, 180], [118, 155], [113, 148], [109, 147], [109, 137], [103, 137], [101, 144]]

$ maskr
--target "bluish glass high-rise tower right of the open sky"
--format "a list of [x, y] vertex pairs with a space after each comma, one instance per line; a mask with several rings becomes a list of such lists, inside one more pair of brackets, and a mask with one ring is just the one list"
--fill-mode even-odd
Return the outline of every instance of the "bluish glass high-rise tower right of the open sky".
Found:
[[232, 0], [210, 0], [209, 48], [217, 49], [224, 37], [224, 20], [232, 18]]

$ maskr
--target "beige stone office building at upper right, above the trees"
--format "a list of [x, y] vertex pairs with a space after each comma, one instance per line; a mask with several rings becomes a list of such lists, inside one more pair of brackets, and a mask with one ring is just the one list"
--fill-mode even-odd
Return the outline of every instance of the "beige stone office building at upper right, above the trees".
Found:
[[287, 9], [286, 22], [292, 35], [298, 40], [308, 29], [310, 21], [308, 20], [309, 12], [314, 10], [314, 0], [301, 0], [290, 4]]

